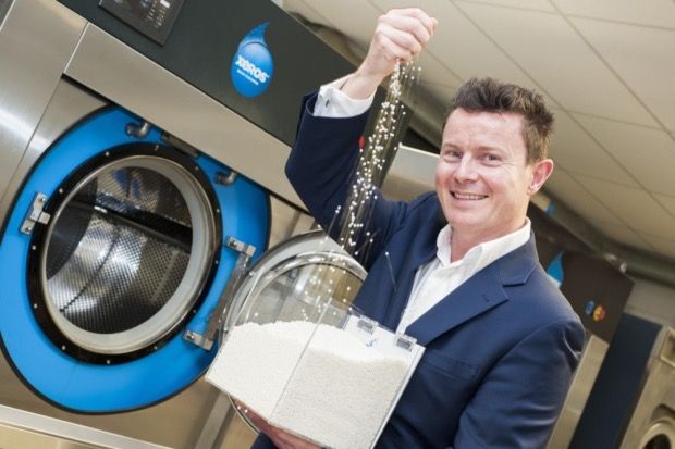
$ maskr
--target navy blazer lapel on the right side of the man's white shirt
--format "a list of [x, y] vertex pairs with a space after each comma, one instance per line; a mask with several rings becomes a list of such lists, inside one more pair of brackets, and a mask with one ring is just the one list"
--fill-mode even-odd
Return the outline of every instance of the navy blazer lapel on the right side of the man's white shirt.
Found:
[[508, 300], [505, 285], [523, 284], [537, 263], [533, 236], [520, 248], [476, 273], [408, 326], [421, 346]]

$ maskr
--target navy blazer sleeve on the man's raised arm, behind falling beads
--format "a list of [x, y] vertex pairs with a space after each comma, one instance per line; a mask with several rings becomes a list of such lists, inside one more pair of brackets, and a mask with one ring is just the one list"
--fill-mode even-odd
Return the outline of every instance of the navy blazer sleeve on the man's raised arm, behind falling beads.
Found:
[[[331, 237], [336, 238], [356, 173], [359, 140], [366, 128], [368, 112], [344, 119], [316, 116], [312, 114], [316, 101], [316, 92], [304, 98], [297, 136], [285, 173], [311, 215]], [[369, 260], [357, 259], [368, 269], [389, 236], [403, 222], [408, 205], [389, 201], [378, 190], [371, 203], [364, 207], [368, 210], [365, 230], [369, 232], [369, 238], [375, 237], [368, 244]], [[360, 234], [361, 241], [356, 248], [366, 242], [366, 232]]]

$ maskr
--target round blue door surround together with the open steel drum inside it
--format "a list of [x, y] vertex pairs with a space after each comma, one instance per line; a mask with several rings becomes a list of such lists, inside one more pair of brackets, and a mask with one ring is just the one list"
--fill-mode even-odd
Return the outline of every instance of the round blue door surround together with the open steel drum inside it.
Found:
[[143, 408], [198, 378], [202, 335], [237, 260], [262, 252], [265, 190], [106, 109], [59, 138], [17, 194], [0, 242], [7, 359], [77, 412]]

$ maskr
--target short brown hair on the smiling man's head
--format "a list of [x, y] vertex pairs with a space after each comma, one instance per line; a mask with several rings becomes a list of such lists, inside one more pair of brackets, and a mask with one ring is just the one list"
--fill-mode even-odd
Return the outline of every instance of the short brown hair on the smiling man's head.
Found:
[[456, 109], [469, 112], [514, 112], [523, 115], [526, 163], [548, 158], [553, 135], [553, 113], [544, 104], [541, 95], [494, 78], [471, 78], [459, 87], [451, 100], [445, 122]]

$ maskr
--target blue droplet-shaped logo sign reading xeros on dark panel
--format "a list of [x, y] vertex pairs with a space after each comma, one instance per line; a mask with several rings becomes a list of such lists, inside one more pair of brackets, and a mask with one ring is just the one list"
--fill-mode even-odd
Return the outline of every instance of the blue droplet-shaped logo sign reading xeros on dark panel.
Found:
[[257, 97], [270, 85], [274, 72], [272, 54], [265, 42], [269, 22], [256, 26], [240, 42], [230, 67], [230, 77], [237, 92]]

